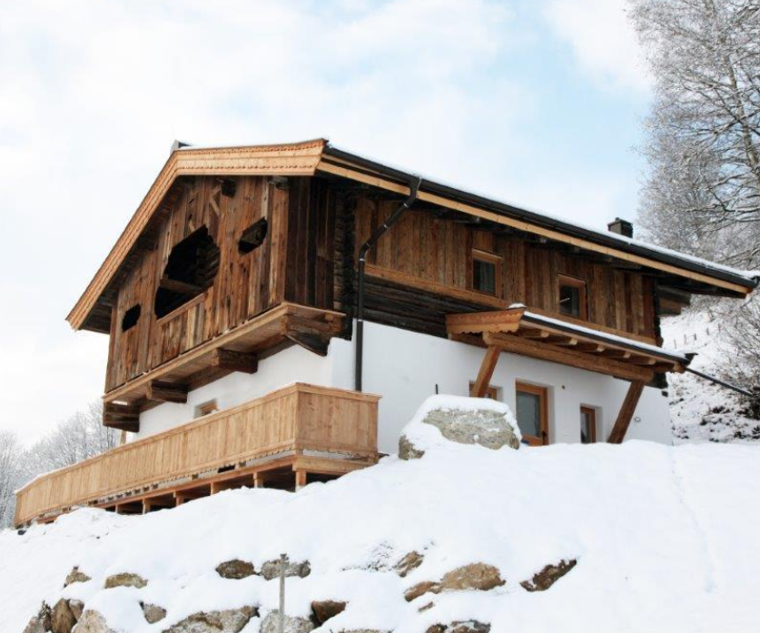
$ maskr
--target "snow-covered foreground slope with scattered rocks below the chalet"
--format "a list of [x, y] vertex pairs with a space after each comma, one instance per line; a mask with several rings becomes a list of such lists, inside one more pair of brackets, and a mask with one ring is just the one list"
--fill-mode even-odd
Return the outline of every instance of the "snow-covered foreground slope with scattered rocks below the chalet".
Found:
[[74, 633], [276, 630], [281, 553], [290, 631], [756, 629], [755, 447], [513, 450], [514, 435], [492, 433], [507, 442], [492, 450], [425, 435], [410, 433], [414, 450], [427, 442], [420, 459], [297, 493], [231, 490], [135, 517], [81, 509], [5, 531], [0, 630], [21, 633], [59, 598], [81, 618]]

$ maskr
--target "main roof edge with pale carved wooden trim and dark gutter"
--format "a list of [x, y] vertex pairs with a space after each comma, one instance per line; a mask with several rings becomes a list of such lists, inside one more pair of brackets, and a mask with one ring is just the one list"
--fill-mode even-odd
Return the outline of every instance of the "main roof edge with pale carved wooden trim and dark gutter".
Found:
[[[130, 252], [153, 215], [183, 175], [282, 175], [312, 176], [331, 173], [367, 183], [387, 191], [408, 194], [409, 183], [418, 174], [346, 152], [325, 139], [302, 143], [251, 145], [244, 147], [192, 147], [175, 149], [148, 190], [132, 219], [105, 258], [93, 280], [69, 312], [66, 320], [75, 330], [87, 327], [87, 320], [109, 284], [114, 282]], [[587, 251], [635, 262], [656, 270], [715, 286], [737, 296], [755, 288], [758, 273], [738, 271], [689, 255], [668, 251], [612, 232], [600, 232], [554, 218], [545, 213], [489, 199], [424, 178], [419, 200], [434, 203], [490, 222], [566, 242]]]

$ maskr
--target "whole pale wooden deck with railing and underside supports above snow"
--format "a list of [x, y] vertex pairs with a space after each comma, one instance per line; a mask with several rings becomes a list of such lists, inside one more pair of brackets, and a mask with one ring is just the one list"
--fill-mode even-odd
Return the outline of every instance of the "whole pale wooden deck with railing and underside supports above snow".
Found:
[[241, 486], [298, 488], [375, 463], [379, 396], [296, 383], [39, 477], [15, 524], [81, 506], [134, 513]]

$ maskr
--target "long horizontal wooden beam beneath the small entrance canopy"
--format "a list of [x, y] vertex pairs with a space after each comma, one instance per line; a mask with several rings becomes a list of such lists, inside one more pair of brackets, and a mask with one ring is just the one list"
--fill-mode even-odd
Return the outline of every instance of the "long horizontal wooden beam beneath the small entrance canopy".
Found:
[[581, 370], [596, 371], [627, 381], [648, 382], [654, 376], [654, 372], [650, 368], [637, 367], [626, 362], [577, 351], [580, 345], [572, 349], [559, 348], [546, 345], [543, 342], [528, 341], [517, 336], [489, 333], [483, 334], [483, 340], [487, 345], [497, 345], [503, 351], [538, 358], [542, 361], [558, 362]]

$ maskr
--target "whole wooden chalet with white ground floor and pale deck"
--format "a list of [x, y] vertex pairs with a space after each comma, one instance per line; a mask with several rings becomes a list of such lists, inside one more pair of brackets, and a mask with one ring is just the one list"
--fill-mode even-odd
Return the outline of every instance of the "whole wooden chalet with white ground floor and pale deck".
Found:
[[[27, 484], [15, 523], [79, 506], [150, 511], [243, 485], [293, 489], [374, 463], [389, 450], [378, 445], [380, 397], [400, 390], [379, 379], [378, 395], [362, 390], [362, 370], [366, 380], [380, 362], [365, 321], [368, 337], [403, 331], [449, 345], [463, 367], [477, 358], [457, 389], [469, 376], [481, 397], [498, 397], [499, 358], [626, 381], [607, 426], [586, 401], [579, 411], [582, 440], [621, 441], [645, 386], [688, 364], [661, 348], [660, 318], [692, 294], [742, 298], [757, 280], [634, 241], [622, 221], [611, 228], [324, 140], [177, 147], [67, 318], [110, 337], [104, 424], [129, 440]], [[389, 345], [381, 361], [396, 353]], [[318, 359], [332, 364], [304, 373]], [[526, 378], [503, 395], [528, 440], [547, 443], [555, 385]], [[414, 410], [433, 380], [394, 414]], [[235, 389], [234, 406], [220, 406]], [[385, 424], [380, 415], [380, 438]]]

